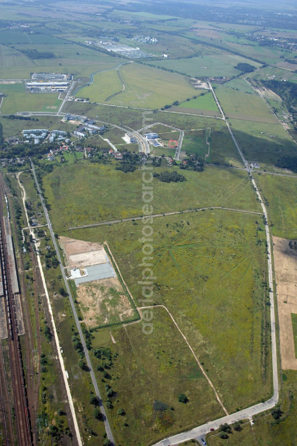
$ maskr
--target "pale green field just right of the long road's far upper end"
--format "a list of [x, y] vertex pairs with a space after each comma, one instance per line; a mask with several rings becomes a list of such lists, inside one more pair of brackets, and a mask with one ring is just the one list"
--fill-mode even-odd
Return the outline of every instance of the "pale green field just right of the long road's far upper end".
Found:
[[278, 123], [265, 101], [258, 95], [226, 87], [217, 87], [215, 93], [223, 111], [230, 119]]

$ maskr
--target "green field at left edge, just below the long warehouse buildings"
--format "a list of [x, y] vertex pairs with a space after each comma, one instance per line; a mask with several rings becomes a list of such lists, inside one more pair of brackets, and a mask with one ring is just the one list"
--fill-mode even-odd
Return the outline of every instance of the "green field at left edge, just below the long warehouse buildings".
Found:
[[58, 111], [62, 100], [58, 93], [30, 93], [23, 83], [1, 84], [1, 91], [7, 95], [1, 105], [1, 114], [13, 115], [18, 111]]

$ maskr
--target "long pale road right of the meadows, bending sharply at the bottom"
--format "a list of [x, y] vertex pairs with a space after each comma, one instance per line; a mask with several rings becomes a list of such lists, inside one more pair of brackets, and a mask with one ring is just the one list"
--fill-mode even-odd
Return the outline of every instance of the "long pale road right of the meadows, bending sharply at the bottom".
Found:
[[[243, 160], [244, 165], [246, 166], [246, 170], [249, 174], [251, 174], [251, 169], [248, 166], [247, 160], [244, 158], [242, 151], [240, 150], [238, 143], [232, 133], [229, 123], [226, 120], [226, 117], [222, 111], [222, 108], [218, 102], [218, 99], [213, 91], [211, 84], [209, 83], [209, 88], [213, 93], [213, 97], [222, 112], [222, 116], [226, 122], [227, 128], [230, 132], [230, 135], [234, 141], [234, 144], [240, 154], [240, 157]], [[272, 259], [271, 259], [271, 241], [268, 227], [268, 219], [267, 219], [267, 211], [264, 205], [264, 202], [261, 198], [257, 185], [255, 183], [254, 178], [251, 177], [251, 182], [255, 188], [256, 194], [260, 200], [260, 204], [262, 206], [263, 215], [265, 218], [265, 233], [267, 239], [267, 252], [268, 252], [268, 283], [269, 283], [269, 298], [270, 298], [270, 322], [271, 322], [271, 344], [272, 344], [272, 376], [273, 376], [273, 395], [269, 400], [264, 403], [255, 404], [247, 409], [240, 410], [239, 412], [232, 413], [227, 415], [226, 417], [218, 418], [218, 420], [210, 421], [209, 423], [205, 423], [204, 425], [195, 427], [194, 429], [189, 430], [188, 432], [182, 432], [177, 435], [172, 435], [171, 437], [164, 438], [162, 441], [155, 443], [154, 446], [170, 446], [170, 445], [178, 445], [182, 442], [197, 439], [202, 443], [202, 439], [205, 439], [205, 434], [210, 432], [210, 429], [218, 429], [219, 426], [223, 423], [232, 424], [235, 421], [246, 420], [252, 418], [261, 412], [265, 412], [266, 410], [272, 409], [278, 402], [279, 399], [279, 384], [278, 384], [278, 373], [277, 373], [277, 352], [276, 352], [276, 321], [275, 321], [275, 309], [274, 309], [274, 293], [273, 293], [273, 280], [272, 280]]]

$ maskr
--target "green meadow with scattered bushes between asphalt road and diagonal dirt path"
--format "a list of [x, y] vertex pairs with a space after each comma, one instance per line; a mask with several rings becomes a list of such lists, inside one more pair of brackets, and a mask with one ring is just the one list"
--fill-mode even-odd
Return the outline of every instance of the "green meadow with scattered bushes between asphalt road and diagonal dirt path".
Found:
[[[96, 371], [101, 361], [92, 355], [97, 382], [113, 429], [116, 444], [149, 445], [165, 434], [179, 432], [180, 425], [191, 428], [209, 417], [223, 415], [215, 395], [192, 352], [163, 308], [154, 308], [151, 335], [142, 332], [142, 323], [100, 329], [92, 334], [94, 349], [110, 348], [112, 365]], [[113, 343], [111, 336], [115, 343]], [[174, 343], [172, 343], [174, 339]], [[114, 391], [106, 395], [105, 384]], [[178, 401], [180, 393], [188, 403]], [[107, 400], [113, 407], [107, 407]], [[159, 405], [158, 405], [159, 402]], [[118, 409], [124, 414], [118, 415]]]

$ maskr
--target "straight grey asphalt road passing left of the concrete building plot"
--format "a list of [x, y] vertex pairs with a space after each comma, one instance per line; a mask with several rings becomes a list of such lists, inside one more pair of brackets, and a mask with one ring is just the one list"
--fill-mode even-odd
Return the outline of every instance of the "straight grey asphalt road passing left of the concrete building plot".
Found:
[[43, 202], [42, 193], [41, 193], [38, 181], [37, 181], [37, 177], [36, 177], [36, 173], [35, 173], [35, 169], [34, 169], [34, 165], [33, 165], [32, 161], [31, 161], [31, 167], [32, 167], [35, 183], [36, 183], [36, 186], [37, 186], [38, 194], [39, 194], [41, 202], [42, 202], [44, 215], [46, 216], [46, 222], [48, 224], [48, 227], [49, 227], [49, 230], [50, 230], [50, 235], [51, 235], [51, 238], [53, 240], [54, 248], [56, 250], [56, 254], [57, 254], [57, 257], [58, 257], [58, 260], [59, 260], [61, 273], [62, 273], [63, 279], [65, 281], [65, 286], [66, 286], [66, 289], [67, 289], [67, 293], [69, 295], [69, 300], [70, 300], [71, 308], [72, 308], [72, 311], [73, 311], [73, 314], [74, 314], [77, 330], [79, 332], [79, 337], [80, 337], [81, 343], [83, 344], [83, 347], [84, 347], [84, 355], [85, 355], [85, 358], [86, 358], [86, 361], [87, 361], [87, 364], [88, 364], [88, 368], [90, 369], [90, 375], [91, 375], [91, 378], [92, 378], [92, 383], [93, 383], [93, 386], [94, 386], [94, 389], [95, 389], [95, 393], [96, 393], [96, 395], [98, 396], [98, 398], [100, 400], [100, 410], [101, 410], [101, 412], [102, 412], [102, 414], [104, 416], [104, 423], [105, 423], [106, 434], [107, 434], [107, 437], [109, 438], [109, 440], [111, 441], [112, 446], [114, 446], [113, 434], [112, 434], [112, 431], [110, 429], [109, 421], [108, 421], [108, 418], [106, 416], [106, 412], [105, 412], [104, 406], [102, 404], [102, 399], [101, 399], [101, 396], [100, 396], [98, 384], [97, 384], [96, 377], [95, 377], [95, 374], [94, 374], [94, 371], [93, 371], [93, 368], [92, 368], [92, 364], [91, 364], [91, 361], [90, 361], [89, 352], [88, 352], [88, 349], [87, 349], [87, 346], [86, 346], [86, 343], [85, 343], [85, 340], [84, 340], [84, 335], [83, 335], [83, 332], [82, 332], [82, 329], [81, 329], [81, 326], [80, 326], [79, 319], [78, 319], [77, 314], [76, 314], [75, 305], [74, 305], [74, 302], [73, 302], [73, 299], [72, 299], [72, 295], [71, 295], [71, 291], [70, 291], [70, 288], [69, 288], [69, 285], [68, 285], [68, 282], [67, 282], [67, 277], [66, 277], [66, 274], [65, 274], [65, 270], [63, 268], [63, 263], [62, 263], [61, 256], [60, 256], [60, 253], [59, 253], [59, 249], [58, 249], [58, 246], [57, 246], [57, 242], [56, 242], [56, 239], [55, 239], [55, 236], [54, 236], [54, 231], [53, 231], [53, 228], [52, 228], [51, 223], [50, 223], [50, 217], [49, 217], [49, 215], [47, 213], [46, 206], [44, 205], [44, 202]]

